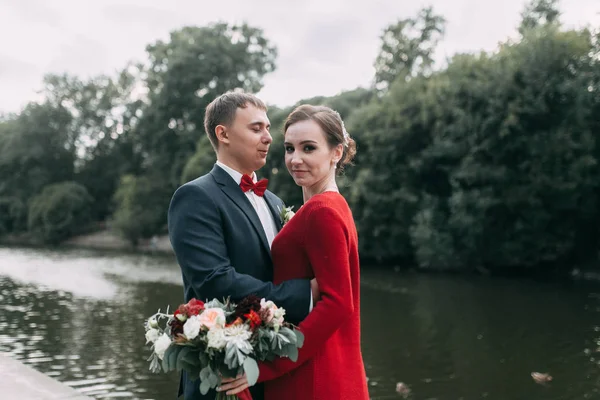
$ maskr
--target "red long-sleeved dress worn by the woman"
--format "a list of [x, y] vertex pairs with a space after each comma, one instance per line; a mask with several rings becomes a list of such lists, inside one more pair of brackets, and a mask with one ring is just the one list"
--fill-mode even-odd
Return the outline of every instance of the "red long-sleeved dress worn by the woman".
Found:
[[273, 241], [274, 281], [317, 278], [321, 300], [300, 324], [298, 361], [259, 363], [265, 400], [369, 399], [360, 347], [358, 235], [336, 192], [313, 196]]

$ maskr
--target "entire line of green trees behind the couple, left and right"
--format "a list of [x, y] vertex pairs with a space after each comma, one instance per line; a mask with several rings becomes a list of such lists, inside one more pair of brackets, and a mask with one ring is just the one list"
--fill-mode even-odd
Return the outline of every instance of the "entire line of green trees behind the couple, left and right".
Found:
[[[303, 99], [358, 144], [341, 178], [365, 260], [429, 269], [568, 270], [600, 240], [600, 34], [533, 0], [495, 51], [434, 54], [432, 8], [383, 30], [373, 85]], [[215, 161], [206, 105], [258, 92], [277, 49], [260, 29], [184, 27], [116, 76], [47, 75], [44, 101], [0, 119], [0, 235], [59, 243], [108, 223], [133, 244], [165, 232], [174, 190]], [[282, 125], [260, 176], [288, 205]]]

